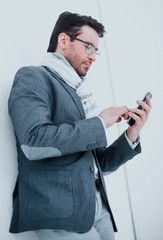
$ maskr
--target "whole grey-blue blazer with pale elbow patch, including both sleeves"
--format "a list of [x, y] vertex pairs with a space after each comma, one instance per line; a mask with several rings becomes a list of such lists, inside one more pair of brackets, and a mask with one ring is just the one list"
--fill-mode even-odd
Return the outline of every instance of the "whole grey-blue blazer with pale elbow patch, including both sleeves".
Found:
[[10, 232], [64, 229], [86, 232], [95, 216], [95, 157], [102, 172], [115, 171], [140, 153], [122, 134], [112, 145], [98, 117], [85, 119], [76, 91], [43, 66], [21, 68], [9, 97], [18, 151], [18, 181]]

